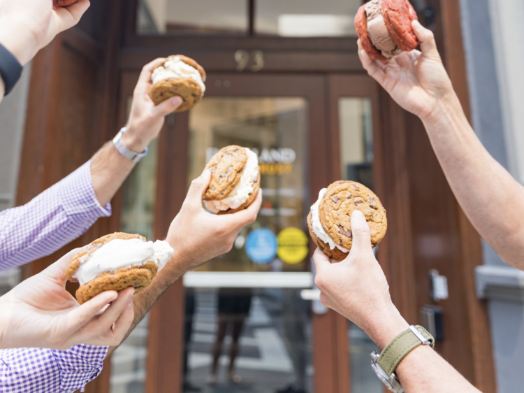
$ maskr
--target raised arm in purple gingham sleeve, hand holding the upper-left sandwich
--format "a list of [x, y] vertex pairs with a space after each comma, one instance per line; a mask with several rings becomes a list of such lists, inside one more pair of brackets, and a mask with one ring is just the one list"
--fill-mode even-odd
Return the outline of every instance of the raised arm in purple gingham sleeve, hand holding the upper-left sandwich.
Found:
[[[124, 143], [142, 152], [180, 105], [175, 97], [154, 106], [148, 96], [157, 60], [138, 80]], [[82, 235], [99, 217], [110, 215], [110, 199], [134, 167], [107, 143], [92, 160], [31, 202], [0, 213], [0, 271], [50, 255]], [[105, 208], [102, 208], [105, 206]]]

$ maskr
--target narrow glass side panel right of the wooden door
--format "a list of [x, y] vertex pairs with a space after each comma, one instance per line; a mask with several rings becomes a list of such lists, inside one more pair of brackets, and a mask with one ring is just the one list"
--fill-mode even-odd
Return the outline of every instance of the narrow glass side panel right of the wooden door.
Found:
[[[344, 97], [338, 102], [340, 173], [373, 189], [373, 128], [371, 99]], [[351, 392], [382, 393], [383, 385], [371, 369], [370, 354], [377, 350], [363, 330], [348, 322]]]

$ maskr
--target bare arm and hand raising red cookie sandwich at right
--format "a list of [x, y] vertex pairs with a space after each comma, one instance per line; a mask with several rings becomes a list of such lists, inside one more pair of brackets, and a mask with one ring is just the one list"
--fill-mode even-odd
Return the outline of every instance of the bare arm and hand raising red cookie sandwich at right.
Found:
[[421, 118], [458, 203], [505, 262], [524, 269], [524, 187], [498, 164], [467, 122], [435, 38], [419, 22], [421, 50], [374, 62], [359, 47], [367, 72], [405, 110]]

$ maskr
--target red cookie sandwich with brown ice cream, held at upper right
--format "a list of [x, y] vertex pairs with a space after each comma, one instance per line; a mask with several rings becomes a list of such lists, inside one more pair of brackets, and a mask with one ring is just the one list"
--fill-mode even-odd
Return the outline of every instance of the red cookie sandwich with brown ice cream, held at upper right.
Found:
[[367, 55], [384, 60], [419, 45], [414, 20], [418, 17], [408, 0], [372, 0], [358, 9], [355, 27]]

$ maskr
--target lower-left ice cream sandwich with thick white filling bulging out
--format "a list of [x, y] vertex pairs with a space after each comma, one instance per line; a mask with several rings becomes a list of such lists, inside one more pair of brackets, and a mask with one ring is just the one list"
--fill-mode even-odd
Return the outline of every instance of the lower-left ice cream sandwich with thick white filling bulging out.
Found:
[[78, 253], [66, 269], [66, 278], [80, 283], [76, 299], [82, 304], [103, 291], [134, 287], [140, 292], [173, 255], [166, 241], [117, 232], [103, 236]]

